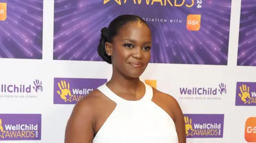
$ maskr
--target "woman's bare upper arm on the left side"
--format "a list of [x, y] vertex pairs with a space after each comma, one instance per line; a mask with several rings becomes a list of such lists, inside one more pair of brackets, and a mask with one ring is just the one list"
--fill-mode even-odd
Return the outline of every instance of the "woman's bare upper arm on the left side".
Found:
[[65, 143], [92, 143], [93, 110], [90, 101], [80, 100], [74, 107], [67, 123]]

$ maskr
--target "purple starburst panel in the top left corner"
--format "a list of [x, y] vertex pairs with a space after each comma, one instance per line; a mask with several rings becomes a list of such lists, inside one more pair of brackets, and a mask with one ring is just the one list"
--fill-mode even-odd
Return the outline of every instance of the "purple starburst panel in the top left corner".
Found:
[[0, 21], [0, 58], [42, 59], [43, 0], [0, 0], [7, 18]]

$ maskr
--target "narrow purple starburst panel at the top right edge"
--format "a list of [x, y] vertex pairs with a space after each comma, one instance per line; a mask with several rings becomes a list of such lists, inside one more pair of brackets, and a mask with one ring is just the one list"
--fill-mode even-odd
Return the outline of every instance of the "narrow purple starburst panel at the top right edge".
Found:
[[237, 65], [256, 66], [256, 0], [242, 0]]

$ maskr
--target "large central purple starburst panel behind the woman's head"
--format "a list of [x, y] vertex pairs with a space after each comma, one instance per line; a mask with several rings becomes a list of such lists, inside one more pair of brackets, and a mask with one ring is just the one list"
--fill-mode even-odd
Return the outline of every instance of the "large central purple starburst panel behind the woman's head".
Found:
[[[168, 1], [55, 0], [54, 60], [102, 61], [97, 53], [100, 30], [116, 16], [136, 14], [153, 33], [151, 63], [227, 65], [231, 0], [191, 0], [174, 7]], [[139, 4], [139, 2], [141, 2]], [[177, 4], [182, 4], [178, 0]], [[199, 31], [187, 30], [187, 16], [201, 14]]]

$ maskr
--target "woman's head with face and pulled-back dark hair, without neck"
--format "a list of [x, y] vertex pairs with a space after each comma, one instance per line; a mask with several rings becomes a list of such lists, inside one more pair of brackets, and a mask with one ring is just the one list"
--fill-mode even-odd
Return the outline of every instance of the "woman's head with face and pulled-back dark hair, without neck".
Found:
[[145, 21], [137, 16], [119, 16], [101, 32], [98, 53], [103, 60], [128, 77], [138, 78], [150, 60], [151, 32]]

